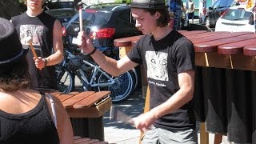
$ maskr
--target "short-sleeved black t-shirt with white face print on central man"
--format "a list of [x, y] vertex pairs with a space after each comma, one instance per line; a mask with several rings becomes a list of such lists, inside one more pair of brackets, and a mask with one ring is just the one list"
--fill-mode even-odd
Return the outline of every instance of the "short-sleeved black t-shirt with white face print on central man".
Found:
[[[194, 46], [189, 39], [172, 30], [165, 38], [142, 36], [127, 54], [131, 61], [143, 64], [150, 86], [150, 109], [166, 102], [179, 90], [178, 74], [194, 70]], [[195, 129], [192, 102], [154, 122], [165, 130]]]

